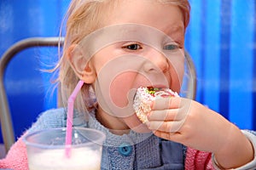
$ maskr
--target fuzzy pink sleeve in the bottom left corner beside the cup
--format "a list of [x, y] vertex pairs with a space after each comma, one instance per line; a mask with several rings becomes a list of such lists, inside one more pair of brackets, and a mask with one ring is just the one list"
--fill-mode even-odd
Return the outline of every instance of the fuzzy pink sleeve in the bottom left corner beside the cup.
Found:
[[0, 169], [28, 170], [26, 145], [22, 137], [10, 148], [7, 156], [0, 160]]

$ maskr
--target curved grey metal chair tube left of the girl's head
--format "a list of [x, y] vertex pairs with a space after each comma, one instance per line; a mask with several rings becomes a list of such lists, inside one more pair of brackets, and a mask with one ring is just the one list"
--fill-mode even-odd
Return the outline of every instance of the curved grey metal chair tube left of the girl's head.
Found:
[[16, 42], [11, 46], [0, 59], [0, 121], [3, 134], [3, 143], [5, 150], [15, 143], [15, 135], [11, 114], [9, 111], [9, 101], [7, 99], [6, 88], [3, 84], [4, 73], [9, 61], [15, 57], [15, 54], [26, 48], [32, 47], [58, 47], [59, 42], [63, 42], [60, 37], [32, 37]]

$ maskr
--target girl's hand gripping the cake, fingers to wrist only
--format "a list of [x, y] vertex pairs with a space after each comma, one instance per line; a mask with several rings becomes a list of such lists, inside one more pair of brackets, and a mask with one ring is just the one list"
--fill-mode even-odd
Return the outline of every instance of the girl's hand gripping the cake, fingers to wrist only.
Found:
[[224, 117], [183, 98], [155, 100], [148, 121], [148, 127], [160, 138], [207, 151], [223, 145], [231, 127]]

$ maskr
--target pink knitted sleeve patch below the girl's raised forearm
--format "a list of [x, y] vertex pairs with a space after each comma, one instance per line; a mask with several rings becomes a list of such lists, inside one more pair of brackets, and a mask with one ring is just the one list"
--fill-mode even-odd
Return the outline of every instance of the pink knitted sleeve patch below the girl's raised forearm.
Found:
[[188, 147], [185, 169], [215, 169], [212, 164], [212, 153], [194, 150]]

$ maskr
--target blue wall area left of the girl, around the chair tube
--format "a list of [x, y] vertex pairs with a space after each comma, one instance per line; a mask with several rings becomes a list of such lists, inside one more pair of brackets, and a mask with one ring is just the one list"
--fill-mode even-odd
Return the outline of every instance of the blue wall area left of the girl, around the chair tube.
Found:
[[[0, 56], [24, 38], [59, 36], [69, 2], [0, 0]], [[29, 48], [17, 54], [7, 68], [5, 87], [16, 138], [36, 121], [40, 112], [56, 107], [56, 92], [49, 88], [51, 75], [40, 71], [49, 69], [44, 64], [55, 61], [56, 56], [56, 48]]]

